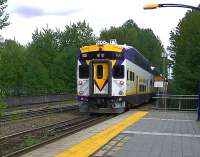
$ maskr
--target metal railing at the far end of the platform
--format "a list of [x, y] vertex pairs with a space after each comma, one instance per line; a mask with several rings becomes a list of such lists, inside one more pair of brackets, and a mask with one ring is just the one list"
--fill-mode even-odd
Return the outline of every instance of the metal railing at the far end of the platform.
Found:
[[153, 97], [155, 109], [196, 111], [198, 95], [157, 95]]

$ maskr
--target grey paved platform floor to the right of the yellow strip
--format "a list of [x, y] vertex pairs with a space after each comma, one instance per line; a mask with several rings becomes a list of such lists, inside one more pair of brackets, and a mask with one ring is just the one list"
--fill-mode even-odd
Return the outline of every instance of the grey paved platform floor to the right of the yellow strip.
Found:
[[91, 157], [200, 157], [195, 112], [149, 111]]

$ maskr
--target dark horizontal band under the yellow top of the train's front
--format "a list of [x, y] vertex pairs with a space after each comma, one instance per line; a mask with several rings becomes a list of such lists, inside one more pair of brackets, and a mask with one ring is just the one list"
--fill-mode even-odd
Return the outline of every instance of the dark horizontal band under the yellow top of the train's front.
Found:
[[122, 58], [122, 53], [112, 52], [112, 51], [95, 51], [86, 52], [80, 55], [81, 59], [91, 60], [91, 59], [119, 59]]

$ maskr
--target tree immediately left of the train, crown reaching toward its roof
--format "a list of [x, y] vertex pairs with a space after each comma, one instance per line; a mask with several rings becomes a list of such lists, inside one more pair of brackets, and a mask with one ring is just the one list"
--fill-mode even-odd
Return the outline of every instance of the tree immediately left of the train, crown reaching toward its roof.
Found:
[[[65, 26], [59, 36], [59, 48], [65, 56], [63, 60], [63, 74], [68, 92], [76, 91], [77, 51], [80, 47], [95, 43], [92, 28], [85, 21]], [[66, 77], [67, 76], [67, 77]]]

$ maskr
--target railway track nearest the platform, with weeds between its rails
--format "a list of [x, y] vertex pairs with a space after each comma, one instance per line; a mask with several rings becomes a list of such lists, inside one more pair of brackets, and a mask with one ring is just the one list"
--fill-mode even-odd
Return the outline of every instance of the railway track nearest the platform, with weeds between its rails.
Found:
[[19, 156], [41, 145], [71, 135], [113, 116], [78, 117], [0, 138], [0, 156]]

